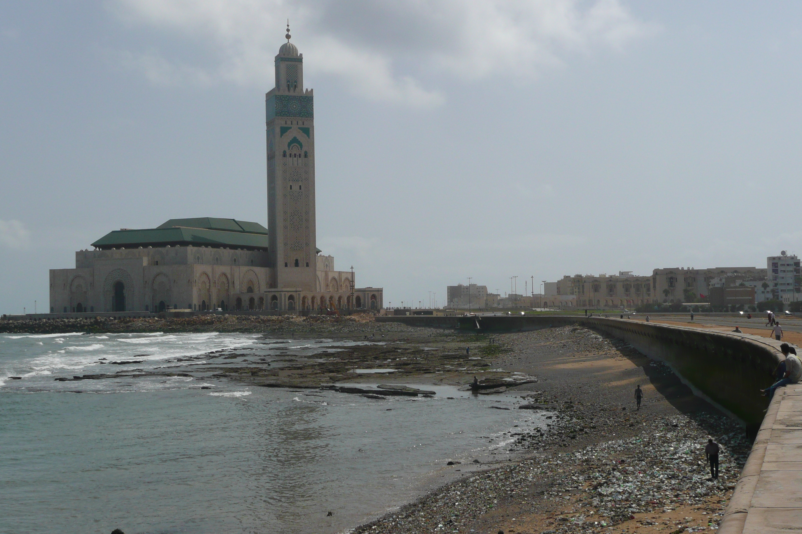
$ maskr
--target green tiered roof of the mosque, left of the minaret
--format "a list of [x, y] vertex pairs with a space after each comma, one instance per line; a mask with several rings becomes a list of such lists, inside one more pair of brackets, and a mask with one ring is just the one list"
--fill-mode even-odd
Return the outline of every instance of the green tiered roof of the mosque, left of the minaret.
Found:
[[116, 230], [92, 243], [93, 247], [136, 248], [166, 245], [208, 247], [245, 247], [267, 250], [267, 228], [259, 223], [236, 219], [170, 219], [157, 228]]

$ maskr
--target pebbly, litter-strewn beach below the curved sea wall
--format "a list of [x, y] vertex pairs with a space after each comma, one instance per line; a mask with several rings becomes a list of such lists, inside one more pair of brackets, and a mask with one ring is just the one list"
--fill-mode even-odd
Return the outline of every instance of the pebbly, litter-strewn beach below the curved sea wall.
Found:
[[[571, 365], [565, 360], [580, 359], [581, 351], [593, 353], [602, 375], [610, 373], [609, 360], [618, 363], [625, 375], [643, 373], [641, 368], [647, 367], [658, 387], [672, 391], [668, 396], [676, 404], [693, 409], [683, 413], [665, 397], [654, 396], [638, 411], [626, 399], [629, 387], [620, 400], [615, 392], [604, 392], [616, 390], [621, 380], [594, 386], [588, 373], [586, 391], [577, 391], [561, 371], [561, 382], [567, 385], [553, 384], [549, 391], [523, 395], [526, 404], [518, 407], [557, 412], [548, 432], [520, 433], [507, 461], [466, 474], [355, 528], [354, 534], [633, 534], [718, 528], [751, 445], [739, 424], [699, 399], [679, 395], [682, 384], [668, 367], [593, 331], [565, 327], [500, 339], [509, 349], [506, 365], [526, 359], [523, 347], [534, 345], [541, 353], [550, 351], [545, 363], [551, 367], [555, 362]], [[535, 387], [549, 385], [545, 375]], [[579, 383], [585, 378], [578, 377]], [[718, 480], [711, 480], [707, 471], [703, 448], [708, 437], [722, 448]]]

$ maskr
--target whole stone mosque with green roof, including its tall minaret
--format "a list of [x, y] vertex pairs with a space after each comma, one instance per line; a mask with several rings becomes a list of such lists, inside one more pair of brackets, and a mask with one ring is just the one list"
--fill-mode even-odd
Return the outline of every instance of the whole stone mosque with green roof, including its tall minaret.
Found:
[[316, 247], [313, 92], [290, 42], [265, 95], [268, 227], [236, 219], [170, 219], [111, 231], [51, 269], [51, 313], [339, 310], [383, 307], [381, 287], [355, 287]]

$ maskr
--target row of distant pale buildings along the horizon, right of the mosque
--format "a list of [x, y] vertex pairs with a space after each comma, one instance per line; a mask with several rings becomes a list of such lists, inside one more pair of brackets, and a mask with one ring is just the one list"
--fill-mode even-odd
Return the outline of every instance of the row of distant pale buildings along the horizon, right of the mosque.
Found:
[[[531, 289], [492, 293], [476, 283], [448, 286], [447, 307], [455, 310], [487, 308], [532, 309], [654, 309], [712, 307], [728, 311], [756, 311], [761, 303], [796, 307], [802, 303], [802, 275], [796, 255], [782, 251], [768, 256], [766, 267], [671, 267], [651, 275], [565, 275], [556, 282], [530, 277]], [[513, 283], [514, 284], [514, 283]], [[538, 291], [535, 292], [535, 287]], [[496, 290], [498, 291], [498, 290]]]

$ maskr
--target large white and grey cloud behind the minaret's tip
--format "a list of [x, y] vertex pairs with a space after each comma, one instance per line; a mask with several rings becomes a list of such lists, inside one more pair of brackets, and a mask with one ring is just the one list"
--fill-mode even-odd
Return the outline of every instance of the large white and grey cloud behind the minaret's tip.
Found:
[[570, 54], [622, 50], [656, 29], [620, 0], [113, 0], [111, 6], [130, 26], [162, 30], [203, 51], [194, 63], [175, 50], [119, 54], [120, 64], [155, 83], [272, 86], [273, 56], [290, 18], [310, 74], [334, 74], [365, 98], [420, 107], [444, 102], [444, 77], [532, 78]]

